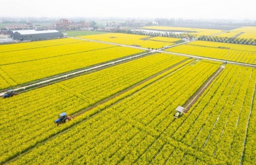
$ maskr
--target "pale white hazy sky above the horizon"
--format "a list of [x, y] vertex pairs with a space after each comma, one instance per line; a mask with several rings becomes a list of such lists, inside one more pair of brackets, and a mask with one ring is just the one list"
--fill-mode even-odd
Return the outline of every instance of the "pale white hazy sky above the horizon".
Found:
[[0, 17], [256, 19], [256, 0], [6, 0]]

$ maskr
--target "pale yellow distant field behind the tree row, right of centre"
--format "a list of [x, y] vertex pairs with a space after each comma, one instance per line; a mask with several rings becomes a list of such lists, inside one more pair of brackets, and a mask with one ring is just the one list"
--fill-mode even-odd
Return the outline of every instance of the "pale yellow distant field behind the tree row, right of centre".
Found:
[[223, 32], [223, 30], [215, 30], [215, 29], [181, 28], [181, 27], [171, 27], [171, 26], [144, 26], [142, 29], [171, 30], [173, 32], [184, 31], [185, 33], [197, 35], [197, 37], [209, 36], [212, 34]]

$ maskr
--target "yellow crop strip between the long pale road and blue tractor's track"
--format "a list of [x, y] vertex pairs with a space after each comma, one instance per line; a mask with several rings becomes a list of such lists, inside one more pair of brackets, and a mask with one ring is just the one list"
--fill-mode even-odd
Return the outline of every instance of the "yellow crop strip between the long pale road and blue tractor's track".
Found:
[[1, 99], [1, 162], [61, 131], [53, 124], [58, 113], [79, 112], [184, 59], [155, 54]]

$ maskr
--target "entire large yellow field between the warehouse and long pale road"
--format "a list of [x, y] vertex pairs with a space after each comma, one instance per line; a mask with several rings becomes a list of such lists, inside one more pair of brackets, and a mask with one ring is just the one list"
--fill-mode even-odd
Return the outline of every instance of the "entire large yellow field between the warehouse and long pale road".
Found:
[[[2, 59], [0, 61], [0, 89], [143, 52], [139, 49], [122, 48], [97, 42], [67, 40], [78, 41], [78, 43], [57, 45], [58, 40], [56, 40], [55, 42], [51, 41], [51, 44], [55, 43], [52, 46], [0, 53]], [[20, 44], [15, 45], [20, 46]], [[5, 46], [9, 45], [2, 45], [2, 47]], [[27, 47], [22, 46], [20, 48]], [[18, 57], [17, 54], [19, 54]]]

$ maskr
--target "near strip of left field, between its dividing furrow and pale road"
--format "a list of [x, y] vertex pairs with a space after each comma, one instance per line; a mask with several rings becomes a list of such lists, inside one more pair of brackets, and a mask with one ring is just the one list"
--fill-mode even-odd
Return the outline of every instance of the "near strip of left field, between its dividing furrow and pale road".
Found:
[[[87, 49], [92, 49], [90, 48], [90, 43], [92, 42], [82, 42], [81, 44], [85, 43], [88, 45], [83, 45], [82, 48], [85, 47]], [[77, 51], [75, 49], [72, 50], [72, 47], [69, 49], [71, 49], [72, 52]], [[43, 53], [43, 50], [41, 51]], [[68, 50], [66, 50], [66, 54], [61, 56], [20, 62], [17, 64], [2, 65], [0, 66], [0, 89], [24, 84], [26, 82], [39, 80], [41, 78], [54, 76], [60, 73], [70, 72], [71, 70], [85, 68], [87, 66], [100, 64], [101, 62], [141, 53], [143, 51], [139, 49], [115, 46], [111, 48], [90, 50], [89, 52], [74, 52], [68, 54]], [[61, 54], [58, 52], [55, 53]]]

